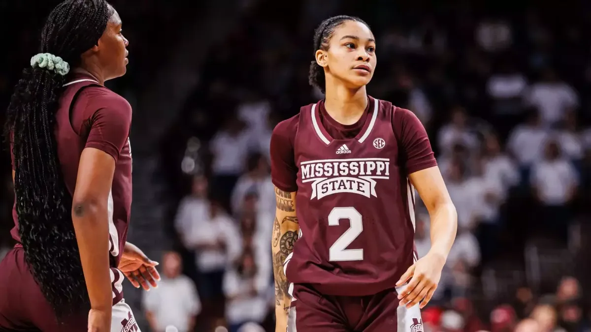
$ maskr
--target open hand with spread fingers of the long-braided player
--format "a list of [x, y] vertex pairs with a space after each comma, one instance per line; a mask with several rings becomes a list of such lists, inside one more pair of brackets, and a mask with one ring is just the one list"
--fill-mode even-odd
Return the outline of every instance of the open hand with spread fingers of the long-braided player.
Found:
[[158, 262], [148, 258], [137, 246], [129, 242], [125, 243], [119, 262], [119, 271], [123, 272], [135, 288], [139, 288], [141, 285], [142, 288], [149, 291], [150, 285], [158, 287], [157, 281], [160, 281], [160, 274], [155, 268], [157, 265]]

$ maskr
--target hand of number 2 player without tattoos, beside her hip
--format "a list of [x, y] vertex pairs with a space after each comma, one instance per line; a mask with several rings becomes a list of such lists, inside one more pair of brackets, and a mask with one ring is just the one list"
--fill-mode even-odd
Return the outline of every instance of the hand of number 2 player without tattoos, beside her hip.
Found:
[[437, 289], [443, 265], [445, 265], [445, 259], [430, 252], [408, 268], [396, 283], [397, 287], [400, 287], [410, 279], [408, 285], [398, 294], [400, 305], [411, 308], [423, 300], [420, 308], [424, 308]]

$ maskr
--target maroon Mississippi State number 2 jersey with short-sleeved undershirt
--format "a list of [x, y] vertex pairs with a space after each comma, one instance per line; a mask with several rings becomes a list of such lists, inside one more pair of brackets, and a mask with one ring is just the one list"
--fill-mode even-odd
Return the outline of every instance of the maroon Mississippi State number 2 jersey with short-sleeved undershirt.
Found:
[[297, 191], [300, 239], [286, 259], [289, 282], [327, 295], [394, 288], [417, 259], [408, 175], [436, 166], [427, 133], [406, 109], [369, 97], [353, 125], [324, 102], [304, 106], [271, 136], [271, 177]]

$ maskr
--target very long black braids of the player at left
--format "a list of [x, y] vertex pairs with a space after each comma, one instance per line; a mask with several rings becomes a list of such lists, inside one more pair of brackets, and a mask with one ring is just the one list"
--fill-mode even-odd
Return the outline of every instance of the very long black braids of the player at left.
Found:
[[[115, 10], [105, 0], [66, 0], [51, 11], [41, 34], [41, 53], [72, 68], [98, 43]], [[12, 142], [19, 235], [35, 281], [59, 320], [89, 308], [54, 135], [56, 110], [69, 76], [27, 67], [15, 86], [4, 134]]]

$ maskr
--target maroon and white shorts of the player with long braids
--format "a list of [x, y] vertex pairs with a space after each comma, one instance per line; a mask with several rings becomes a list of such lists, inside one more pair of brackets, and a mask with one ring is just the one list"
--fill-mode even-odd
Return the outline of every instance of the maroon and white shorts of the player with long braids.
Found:
[[[13, 248], [0, 262], [0, 331], [87, 332], [88, 314], [56, 323], [51, 305], [25, 262], [24, 250]], [[141, 332], [125, 301], [113, 305], [111, 332]]]

